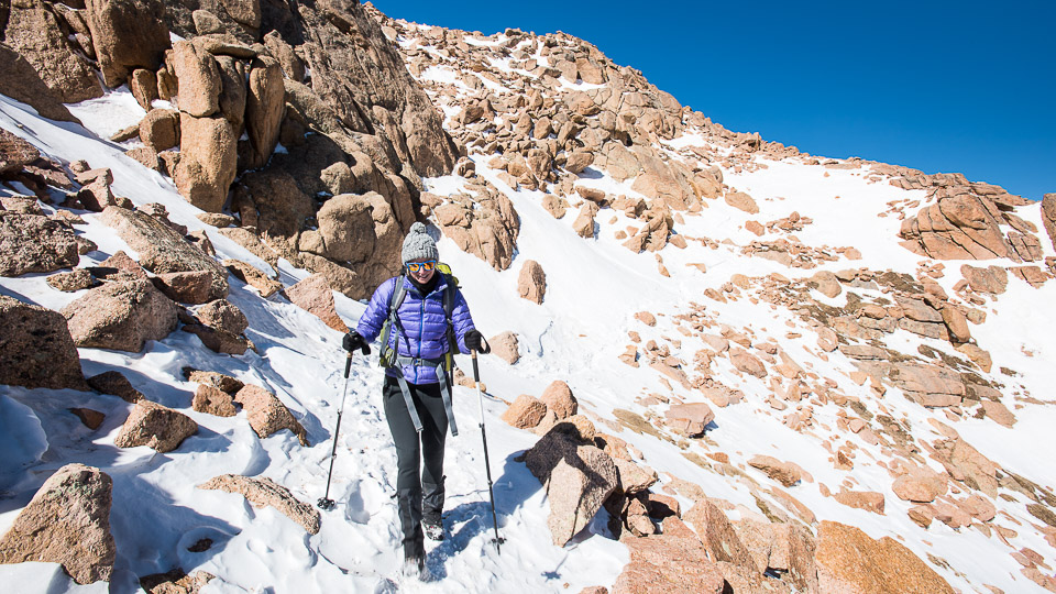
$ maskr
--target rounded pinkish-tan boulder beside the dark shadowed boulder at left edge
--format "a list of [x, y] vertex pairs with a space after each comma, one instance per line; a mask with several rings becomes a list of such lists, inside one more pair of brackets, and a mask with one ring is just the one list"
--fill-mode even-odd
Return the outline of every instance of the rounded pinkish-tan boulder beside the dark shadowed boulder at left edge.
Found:
[[108, 283], [61, 310], [78, 346], [138, 353], [176, 329], [176, 304], [150, 280]]

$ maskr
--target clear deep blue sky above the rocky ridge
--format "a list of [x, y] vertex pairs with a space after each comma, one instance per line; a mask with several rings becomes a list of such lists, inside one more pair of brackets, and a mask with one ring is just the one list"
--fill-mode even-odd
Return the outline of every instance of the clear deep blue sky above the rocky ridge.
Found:
[[736, 132], [1056, 193], [1056, 1], [376, 0], [389, 16], [564, 31]]

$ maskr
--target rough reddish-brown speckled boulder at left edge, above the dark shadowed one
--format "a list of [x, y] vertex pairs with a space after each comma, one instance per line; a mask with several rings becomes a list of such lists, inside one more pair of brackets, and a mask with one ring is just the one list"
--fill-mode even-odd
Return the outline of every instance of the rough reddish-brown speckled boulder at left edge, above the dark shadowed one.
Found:
[[0, 276], [50, 273], [78, 262], [69, 227], [40, 215], [0, 210]]

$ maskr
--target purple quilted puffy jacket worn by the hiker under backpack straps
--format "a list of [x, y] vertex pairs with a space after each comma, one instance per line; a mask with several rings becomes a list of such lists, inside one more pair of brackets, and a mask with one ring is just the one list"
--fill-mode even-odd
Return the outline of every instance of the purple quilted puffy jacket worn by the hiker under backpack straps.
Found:
[[[416, 359], [439, 359], [449, 350], [448, 342], [448, 321], [443, 315], [443, 292], [447, 290], [450, 279], [447, 275], [440, 274], [437, 285], [432, 293], [422, 297], [417, 287], [410, 280], [403, 276], [389, 278], [382, 283], [371, 302], [366, 306], [366, 311], [360, 317], [360, 322], [355, 327], [367, 342], [373, 342], [382, 333], [382, 326], [388, 318], [388, 304], [393, 299], [393, 293], [396, 290], [396, 283], [403, 282], [406, 288], [404, 302], [399, 306], [397, 316], [399, 324], [394, 323], [388, 331], [388, 343], [397, 344], [399, 356], [411, 356]], [[454, 324], [454, 334], [459, 341], [459, 349], [463, 353], [470, 352], [465, 346], [465, 333], [474, 328], [473, 318], [470, 317], [470, 307], [465, 304], [465, 297], [462, 292], [455, 289], [454, 309], [451, 311], [451, 322]], [[436, 384], [440, 380], [432, 367], [425, 365], [404, 365], [404, 378], [411, 384]], [[386, 370], [387, 375], [396, 375], [396, 370]]]

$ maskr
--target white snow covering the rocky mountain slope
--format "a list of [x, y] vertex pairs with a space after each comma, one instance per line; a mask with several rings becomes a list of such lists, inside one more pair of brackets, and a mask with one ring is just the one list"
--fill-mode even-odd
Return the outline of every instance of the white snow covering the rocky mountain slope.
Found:
[[[495, 45], [502, 38], [466, 37], [466, 43]], [[458, 74], [447, 66], [427, 68], [420, 79], [464, 87]], [[490, 81], [482, 80], [491, 87]], [[595, 87], [564, 81], [562, 86], [578, 90]], [[138, 206], [161, 202], [174, 222], [193, 230], [204, 229], [219, 257], [235, 257], [270, 274], [275, 272], [216, 229], [201, 223], [195, 217], [198, 210], [176, 193], [170, 180], [144, 169], [125, 157], [121, 147], [106, 140], [143, 114], [127, 89], [70, 106], [70, 110], [87, 129], [44, 120], [26, 106], [0, 96], [0, 127], [63, 162], [87, 155], [92, 167], [110, 167], [116, 194], [129, 197]], [[448, 116], [457, 111], [455, 108], [446, 110]], [[680, 148], [703, 145], [706, 140], [702, 134], [690, 133], [667, 144]], [[479, 396], [476, 391], [460, 387], [454, 391], [454, 403], [462, 432], [458, 438], [449, 438], [447, 446], [448, 539], [427, 543], [427, 564], [439, 579], [405, 584], [407, 590], [579, 592], [591, 585], [610, 585], [616, 580], [628, 562], [628, 552], [618, 541], [607, 538], [604, 512], [565, 548], [550, 543], [546, 491], [525, 465], [515, 460], [537, 437], [505, 425], [499, 416], [506, 403], [520, 394], [539, 395], [554, 380], [568, 382], [581, 406], [597, 419], [613, 419], [615, 409], [646, 415], [649, 410], [636, 399], [649, 393], [694, 398], [690, 391], [679, 386], [664, 387], [661, 376], [647, 366], [635, 370], [617, 360], [629, 343], [628, 332], [635, 331], [641, 334], [642, 342], [668, 342], [664, 337], [681, 340], [680, 348], [672, 345], [672, 355], [691, 362], [703, 343], [679, 333], [673, 318], [689, 311], [691, 302], [703, 304], [711, 319], [735, 330], [750, 328], [756, 334], [754, 342], [770, 340], [779, 344], [810, 372], [836, 380], [842, 393], [860, 398], [873, 414], [882, 406], [892, 419], [908, 419], [908, 431], [919, 440], [938, 439], [938, 432], [927, 419], [947, 422], [941, 411], [923, 409], [897, 388], [889, 388], [882, 400], [876, 399], [868, 383], [859, 386], [850, 381], [854, 367], [846, 358], [838, 352], [829, 353], [827, 359], [817, 356], [816, 330], [794, 312], [771, 310], [766, 304], [752, 304], [746, 298], [723, 304], [703, 296], [705, 289], [721, 287], [734, 274], [762, 277], [780, 273], [801, 278], [817, 272], [789, 268], [741, 254], [741, 248], [751, 241], [788, 239], [785, 233], [756, 238], [744, 229], [746, 221], [766, 223], [788, 217], [793, 210], [813, 219], [802, 231], [793, 233], [804, 244], [827, 246], [834, 255], [836, 248], [854, 246], [862, 255], [860, 261], [840, 256], [835, 262], [821, 262], [821, 270], [914, 271], [917, 263], [927, 258], [898, 244], [900, 221], [895, 216], [879, 215], [892, 200], [923, 201], [923, 191], [908, 193], [886, 183], [871, 183], [864, 176], [864, 169], [760, 161], [766, 168], [741, 173], [724, 170], [726, 184], [751, 195], [760, 208], [759, 213], [748, 216], [721, 199], [706, 200], [698, 216], [685, 216], [684, 223], [678, 226], [683, 235], [718, 242], [717, 250], [690, 241], [685, 250], [669, 246], [658, 254], [632, 254], [620, 245], [615, 233], [628, 226], [640, 227], [640, 221], [603, 210], [597, 217], [596, 237], [584, 240], [571, 230], [578, 208], [570, 209], [563, 219], [554, 219], [541, 206], [542, 193], [514, 190], [498, 178], [497, 170], [487, 166], [487, 156], [471, 154], [471, 157], [479, 175], [510, 196], [521, 226], [514, 264], [502, 272], [459, 251], [450, 239], [439, 242], [442, 258], [452, 265], [464, 287], [477, 327], [488, 337], [513, 330], [520, 340], [522, 359], [514, 366], [495, 358], [481, 359], [481, 376], [487, 386], [483, 396], [483, 422], [488, 437], [498, 528], [506, 542], [499, 554], [491, 540], [493, 526], [481, 444], [482, 419], [477, 417]], [[448, 195], [462, 190], [465, 180], [448, 176], [424, 183], [429, 191]], [[614, 195], [636, 194], [630, 189], [630, 180], [617, 183], [593, 168], [584, 172], [580, 184]], [[1036, 210], [1025, 209], [1022, 216], [1041, 228], [1041, 215]], [[101, 262], [119, 250], [135, 257], [98, 216], [85, 213], [82, 217], [86, 223], [76, 229], [95, 241], [99, 250], [84, 256], [81, 265]], [[610, 222], [614, 217], [615, 222]], [[1046, 255], [1053, 255], [1047, 243], [1044, 250]], [[658, 255], [670, 278], [660, 274]], [[517, 275], [528, 260], [539, 262], [547, 274], [548, 292], [542, 305], [521, 299], [516, 290]], [[697, 263], [706, 265], [706, 274], [690, 266]], [[1012, 265], [1011, 262], [998, 263]], [[945, 264], [949, 274], [939, 283], [953, 295], [953, 284], [959, 278], [956, 271], [961, 263]], [[286, 286], [308, 275], [286, 261], [280, 261], [278, 268]], [[0, 278], [0, 293], [52, 309], [59, 309], [77, 297], [77, 294], [52, 289], [44, 278], [45, 275]], [[857, 293], [882, 295], [868, 289]], [[812, 295], [823, 302], [846, 304], [845, 294], [834, 299], [816, 292]], [[380, 580], [395, 574], [402, 560], [392, 498], [396, 452], [381, 407], [382, 371], [376, 365], [376, 354], [371, 358], [356, 354], [345, 380], [341, 336], [318, 318], [280, 295], [261, 299], [254, 289], [234, 278], [231, 278], [229, 300], [250, 320], [246, 333], [258, 353], [217, 355], [196, 337], [180, 331], [148, 343], [141, 353], [80, 349], [86, 375], [121, 371], [147, 398], [177, 408], [199, 424], [198, 435], [173, 452], [161, 454], [145, 447], [116, 448], [113, 439], [131, 409], [131, 405], [119, 398], [75, 391], [0, 386], [0, 534], [11, 526], [47, 476], [66, 463], [81, 462], [102, 469], [113, 479], [114, 506], [110, 519], [118, 558], [111, 592], [134, 592], [139, 578], [175, 566], [218, 575], [219, 580], [206, 586], [204, 593], [371, 592]], [[350, 324], [364, 309], [364, 304], [342, 295], [336, 295], [336, 300], [339, 314]], [[981, 419], [955, 425], [983, 454], [1046, 487], [1056, 485], [1056, 465], [1052, 457], [1045, 455], [1056, 450], [1056, 437], [1050, 430], [1056, 422], [1056, 409], [1050, 404], [1027, 403], [1023, 397], [1053, 400], [1050, 386], [1056, 383], [1056, 371], [1050, 361], [1056, 358], [1056, 336], [1050, 331], [1052, 314], [1040, 307], [1040, 304], [1052, 302], [1056, 302], [1056, 283], [1035, 289], [1010, 275], [1009, 290], [988, 304], [986, 323], [972, 326], [971, 332], [992, 354], [991, 375], [1007, 384], [1004, 404], [1019, 422], [1014, 429]], [[635, 314], [642, 310], [660, 314], [654, 328], [635, 320]], [[710, 330], [717, 331], [718, 327]], [[884, 340], [904, 352], [914, 352], [922, 343], [950, 351], [948, 343], [922, 340], [908, 332], [897, 332]], [[462, 369], [471, 369], [466, 358], [459, 359]], [[185, 366], [217, 371], [274, 392], [305, 426], [311, 446], [300, 447], [287, 431], [261, 440], [250, 429], [244, 415], [220, 418], [191, 410], [195, 385], [184, 380]], [[1018, 375], [1001, 375], [998, 371], [1001, 367], [1015, 370]], [[911, 505], [894, 496], [890, 474], [875, 463], [884, 460], [879, 447], [853, 433], [817, 429], [816, 435], [804, 435], [790, 429], [781, 422], [783, 415], [769, 414], [768, 384], [736, 372], [727, 360], [716, 360], [714, 377], [743, 391], [745, 403], [716, 408], [714, 427], [704, 440], [679, 444], [627, 429], [603, 428], [601, 424], [598, 429], [615, 432], [640, 450], [641, 463], [659, 471], [662, 483], [679, 477], [701, 485], [708, 496], [739, 505], [733, 517], [758, 514], [754, 495], [743, 482], [707, 471], [686, 454], [703, 458], [707, 453], [724, 452], [732, 464], [741, 468], [756, 454], [793, 460], [813, 480], [789, 491], [814, 510], [820, 520], [853, 524], [876, 538], [894, 537], [925, 560], [928, 553], [942, 557], [953, 569], [933, 566], [952, 585], [965, 591], [981, 590], [987, 583], [1007, 592], [1037, 590], [1019, 574], [1019, 565], [996, 538], [969, 529], [957, 532], [941, 522], [933, 524], [927, 531], [913, 524], [906, 516]], [[326, 488], [333, 428], [345, 389], [348, 402], [330, 487], [330, 497], [338, 502], [338, 507], [322, 514], [318, 535], [306, 535], [278, 512], [253, 508], [239, 495], [196, 488], [226, 473], [267, 476], [288, 487], [298, 499], [316, 502]], [[66, 411], [70, 407], [99, 410], [106, 414], [106, 421], [91, 431]], [[835, 427], [836, 410], [832, 406], [817, 407], [815, 422]], [[823, 439], [831, 440], [834, 448], [843, 441], [855, 443], [857, 461], [851, 473], [833, 468], [831, 454], [820, 444]], [[768, 484], [762, 473], [750, 468], [745, 472], [760, 484]], [[849, 479], [853, 481], [848, 482]], [[833, 491], [839, 485], [850, 485], [856, 491], [881, 492], [887, 498], [887, 514], [878, 516], [835, 504], [822, 495], [821, 484]], [[1015, 518], [1013, 522], [1030, 519], [1024, 515], [1023, 503], [994, 502], [999, 510]], [[1040, 535], [1025, 527], [1018, 532], [1019, 536], [1010, 538], [1014, 547], [1046, 551], [1046, 559], [1053, 560], [1050, 549]], [[212, 548], [199, 553], [188, 551], [189, 546], [202, 538], [212, 539]], [[102, 590], [101, 584], [74, 584], [54, 563], [0, 565], [0, 582], [13, 584], [16, 592]]]

